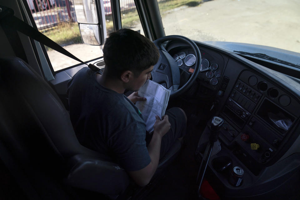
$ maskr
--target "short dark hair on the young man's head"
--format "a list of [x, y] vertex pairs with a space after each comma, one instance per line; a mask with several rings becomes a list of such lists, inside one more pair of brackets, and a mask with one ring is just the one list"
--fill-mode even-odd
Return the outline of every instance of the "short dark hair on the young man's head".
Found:
[[123, 28], [109, 34], [103, 47], [103, 58], [108, 77], [120, 78], [126, 70], [139, 76], [158, 62], [159, 52], [148, 38]]

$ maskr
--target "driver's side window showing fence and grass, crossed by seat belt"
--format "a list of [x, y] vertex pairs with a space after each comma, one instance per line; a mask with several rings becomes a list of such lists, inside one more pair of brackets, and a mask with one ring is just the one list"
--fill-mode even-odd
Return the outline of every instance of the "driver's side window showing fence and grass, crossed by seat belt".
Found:
[[[83, 61], [103, 56], [100, 46], [82, 43], [73, 0], [27, 0], [27, 3], [38, 30], [74, 56]], [[110, 0], [104, 1], [104, 10], [107, 34], [109, 34], [113, 32]], [[79, 63], [47, 46], [46, 50], [54, 71]]]

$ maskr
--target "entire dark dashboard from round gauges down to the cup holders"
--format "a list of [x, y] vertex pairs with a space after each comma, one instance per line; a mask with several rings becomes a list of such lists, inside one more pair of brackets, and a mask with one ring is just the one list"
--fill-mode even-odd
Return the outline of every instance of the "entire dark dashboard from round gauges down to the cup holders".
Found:
[[[274, 184], [274, 187], [282, 184], [278, 177], [292, 169], [278, 167], [279, 163], [299, 150], [299, 83], [234, 53], [201, 42], [196, 44], [202, 59], [198, 87], [215, 95], [219, 102], [216, 116], [224, 119], [219, 135], [222, 150], [212, 156], [209, 163], [212, 172], [224, 190], [232, 192], [233, 196], [247, 195], [242, 188], [262, 192], [258, 188], [264, 183]], [[171, 42], [166, 49], [178, 68], [194, 73], [196, 58], [192, 49], [181, 42]], [[201, 72], [207, 68], [210, 70]], [[201, 95], [195, 96], [199, 98]], [[202, 135], [209, 132], [207, 127]], [[201, 143], [200, 139], [198, 147], [202, 146]], [[296, 147], [296, 152], [291, 151], [292, 147]], [[228, 172], [218, 170], [216, 163], [220, 162], [230, 162], [232, 166], [244, 169], [241, 186], [228, 183]], [[270, 177], [274, 178], [273, 182], [268, 180]]]

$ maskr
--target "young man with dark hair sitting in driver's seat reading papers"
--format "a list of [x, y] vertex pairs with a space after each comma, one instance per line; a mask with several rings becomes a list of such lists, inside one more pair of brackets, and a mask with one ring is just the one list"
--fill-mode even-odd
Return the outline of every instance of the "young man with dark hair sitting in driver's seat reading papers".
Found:
[[[140, 186], [149, 183], [172, 143], [183, 137], [186, 116], [171, 108], [156, 117], [153, 134], [146, 141], [146, 126], [134, 105], [138, 90], [151, 78], [159, 58], [148, 38], [130, 29], [113, 32], [103, 48], [103, 74], [83, 68], [68, 83], [70, 117], [79, 142], [118, 163]], [[125, 97], [124, 91], [133, 92]], [[147, 142], [147, 144], [146, 144]]]

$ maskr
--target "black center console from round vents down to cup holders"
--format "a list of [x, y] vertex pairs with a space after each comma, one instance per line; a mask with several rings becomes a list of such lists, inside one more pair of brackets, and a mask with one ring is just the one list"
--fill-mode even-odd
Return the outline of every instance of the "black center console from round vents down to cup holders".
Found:
[[[276, 163], [300, 114], [299, 102], [286, 90], [249, 70], [239, 74], [219, 117], [224, 120], [219, 134], [221, 151], [212, 155], [209, 167], [230, 193], [247, 188]], [[209, 127], [204, 130], [196, 153], [203, 152]], [[231, 163], [231, 164], [230, 164]], [[243, 169], [238, 187], [229, 183], [233, 167]]]

